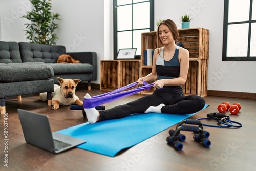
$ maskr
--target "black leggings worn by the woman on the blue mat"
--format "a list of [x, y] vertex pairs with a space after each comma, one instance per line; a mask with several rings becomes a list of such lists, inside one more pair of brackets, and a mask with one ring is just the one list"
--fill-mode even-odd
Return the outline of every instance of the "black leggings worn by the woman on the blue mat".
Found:
[[165, 105], [161, 108], [162, 113], [189, 114], [203, 109], [205, 100], [196, 95], [184, 96], [181, 86], [164, 86], [163, 89], [156, 89], [151, 95], [99, 111], [99, 121], [123, 118], [134, 113], [144, 113], [148, 107], [158, 106], [162, 103]]

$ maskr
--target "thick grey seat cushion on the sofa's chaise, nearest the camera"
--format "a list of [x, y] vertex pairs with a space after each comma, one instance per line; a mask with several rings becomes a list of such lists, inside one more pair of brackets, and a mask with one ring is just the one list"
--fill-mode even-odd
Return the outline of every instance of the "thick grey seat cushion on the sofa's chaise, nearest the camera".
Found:
[[53, 77], [53, 68], [42, 62], [0, 63], [0, 82], [44, 80]]

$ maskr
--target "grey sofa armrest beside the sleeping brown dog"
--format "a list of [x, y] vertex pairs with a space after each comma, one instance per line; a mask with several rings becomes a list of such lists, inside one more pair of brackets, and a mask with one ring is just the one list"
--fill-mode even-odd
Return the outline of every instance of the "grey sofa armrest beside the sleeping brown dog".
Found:
[[73, 59], [81, 63], [89, 63], [93, 66], [93, 79], [97, 80], [97, 54], [96, 52], [67, 52]]

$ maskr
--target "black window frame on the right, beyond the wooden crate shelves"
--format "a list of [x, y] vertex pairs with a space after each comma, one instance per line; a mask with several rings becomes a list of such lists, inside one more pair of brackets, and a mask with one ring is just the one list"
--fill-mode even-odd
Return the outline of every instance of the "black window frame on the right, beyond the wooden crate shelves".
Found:
[[[256, 61], [256, 56], [250, 56], [250, 43], [251, 43], [251, 24], [256, 23], [256, 20], [252, 20], [252, 2], [250, 0], [250, 11], [249, 20], [241, 22], [230, 22], [228, 23], [228, 6], [229, 0], [224, 0], [224, 21], [223, 21], [223, 45], [222, 45], [222, 61]], [[256, 3], [256, 1], [254, 1]], [[249, 24], [248, 28], [248, 46], [247, 46], [247, 56], [246, 57], [227, 57], [227, 35], [228, 35], [228, 25], [232, 24]]]

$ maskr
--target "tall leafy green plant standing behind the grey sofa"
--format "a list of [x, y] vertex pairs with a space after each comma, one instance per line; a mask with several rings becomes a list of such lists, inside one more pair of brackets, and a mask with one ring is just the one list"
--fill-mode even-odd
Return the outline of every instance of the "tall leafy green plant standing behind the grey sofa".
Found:
[[55, 20], [60, 20], [59, 13], [52, 13], [52, 0], [30, 0], [31, 11], [27, 11], [22, 18], [27, 18], [26, 38], [31, 43], [55, 45], [58, 39], [55, 30], [59, 28]]

